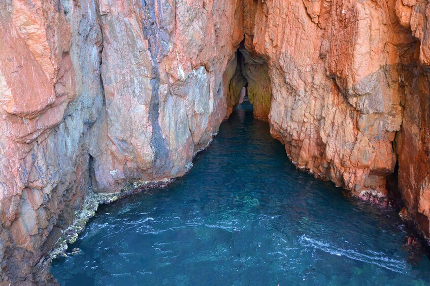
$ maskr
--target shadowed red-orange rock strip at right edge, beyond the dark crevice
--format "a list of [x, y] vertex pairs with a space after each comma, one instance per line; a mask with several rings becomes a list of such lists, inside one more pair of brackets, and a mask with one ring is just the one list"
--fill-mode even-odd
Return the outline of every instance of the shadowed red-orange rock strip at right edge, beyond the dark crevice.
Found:
[[401, 214], [416, 221], [430, 237], [430, 3], [398, 0], [395, 13], [417, 39], [413, 59], [405, 63], [401, 83], [403, 124], [396, 136], [399, 189], [405, 203]]

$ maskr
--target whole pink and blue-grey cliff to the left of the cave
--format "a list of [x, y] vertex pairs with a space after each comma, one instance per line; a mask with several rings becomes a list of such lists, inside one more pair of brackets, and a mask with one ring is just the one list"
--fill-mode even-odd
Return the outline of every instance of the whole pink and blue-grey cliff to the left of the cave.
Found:
[[212, 139], [226, 116], [222, 78], [243, 38], [243, 9], [0, 5], [1, 278], [31, 283], [91, 186], [117, 192], [181, 176]]

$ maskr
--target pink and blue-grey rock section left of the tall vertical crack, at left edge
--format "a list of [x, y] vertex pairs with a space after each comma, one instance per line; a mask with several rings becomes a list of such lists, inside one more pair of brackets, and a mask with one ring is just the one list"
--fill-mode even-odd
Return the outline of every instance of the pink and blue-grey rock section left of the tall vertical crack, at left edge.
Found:
[[88, 1], [6, 1], [0, 15], [0, 277], [23, 283], [89, 187], [103, 40]]

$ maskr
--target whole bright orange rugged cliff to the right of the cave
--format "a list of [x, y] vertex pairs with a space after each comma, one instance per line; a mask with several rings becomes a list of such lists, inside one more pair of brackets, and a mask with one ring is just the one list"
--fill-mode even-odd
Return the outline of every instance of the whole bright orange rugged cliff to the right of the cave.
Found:
[[294, 164], [381, 201], [397, 163], [402, 215], [428, 236], [430, 4], [273, 0], [244, 11], [245, 49], [268, 65], [271, 133]]

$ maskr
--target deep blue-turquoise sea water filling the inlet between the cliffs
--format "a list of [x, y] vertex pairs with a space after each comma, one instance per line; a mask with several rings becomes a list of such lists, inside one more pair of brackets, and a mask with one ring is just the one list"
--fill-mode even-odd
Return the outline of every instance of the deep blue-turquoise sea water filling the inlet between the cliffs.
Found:
[[189, 174], [102, 206], [61, 285], [424, 285], [394, 210], [297, 171], [245, 102]]

